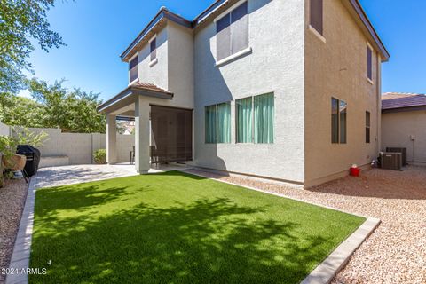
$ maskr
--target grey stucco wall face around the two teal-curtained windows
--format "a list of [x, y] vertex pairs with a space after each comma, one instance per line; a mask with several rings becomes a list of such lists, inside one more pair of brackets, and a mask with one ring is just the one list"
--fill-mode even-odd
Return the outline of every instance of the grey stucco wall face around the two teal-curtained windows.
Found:
[[[252, 52], [220, 67], [215, 23], [194, 36], [195, 164], [303, 183], [304, 2], [248, 1], [248, 31]], [[235, 99], [268, 92], [275, 96], [274, 143], [235, 143]], [[206, 144], [204, 107], [226, 101], [231, 143]]]

